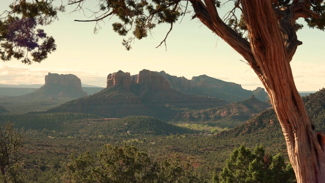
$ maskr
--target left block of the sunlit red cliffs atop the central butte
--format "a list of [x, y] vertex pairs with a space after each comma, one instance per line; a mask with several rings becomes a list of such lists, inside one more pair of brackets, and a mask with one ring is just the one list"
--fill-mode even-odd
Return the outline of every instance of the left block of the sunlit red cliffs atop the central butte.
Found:
[[127, 90], [130, 89], [131, 85], [131, 75], [130, 73], [124, 73], [123, 71], [118, 71], [107, 76], [107, 87], [112, 86], [123, 86]]

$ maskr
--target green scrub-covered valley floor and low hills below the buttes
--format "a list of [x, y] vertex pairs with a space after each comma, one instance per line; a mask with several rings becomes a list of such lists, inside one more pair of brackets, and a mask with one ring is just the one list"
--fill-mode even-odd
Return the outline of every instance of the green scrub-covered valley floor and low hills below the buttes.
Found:
[[[303, 98], [306, 110], [319, 130], [324, 130], [324, 99], [325, 89]], [[71, 153], [77, 157], [89, 151], [95, 157], [96, 152], [108, 143], [117, 146], [133, 144], [158, 160], [176, 154], [181, 160], [190, 158], [194, 170], [207, 181], [212, 172], [218, 173], [222, 169], [234, 148], [241, 144], [251, 150], [256, 144], [262, 144], [272, 156], [279, 152], [284, 156], [286, 154], [283, 134], [271, 109], [250, 118], [239, 127], [217, 135], [205, 135], [202, 132], [183, 134], [191, 132], [145, 116], [107, 119], [76, 113], [0, 115], [2, 123], [8, 120], [15, 122], [15, 127], [25, 135], [23, 152], [32, 153], [24, 160], [28, 167], [28, 182], [55, 182], [54, 179], [61, 177]]]

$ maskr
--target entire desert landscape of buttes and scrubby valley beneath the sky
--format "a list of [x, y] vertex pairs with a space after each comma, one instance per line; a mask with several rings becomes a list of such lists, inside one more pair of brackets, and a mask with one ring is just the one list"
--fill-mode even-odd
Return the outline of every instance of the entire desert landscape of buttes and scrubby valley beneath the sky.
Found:
[[[74, 75], [51, 74], [22, 96], [1, 96], [0, 124], [23, 134], [26, 182], [60, 182], [71, 154], [96, 157], [105, 144], [130, 145], [161, 162], [192, 158], [200, 182], [212, 182], [235, 148], [263, 145], [288, 163], [281, 127], [263, 88], [253, 91], [206, 75], [187, 80], [163, 71], [108, 75], [89, 95]], [[325, 130], [325, 89], [303, 97]]]

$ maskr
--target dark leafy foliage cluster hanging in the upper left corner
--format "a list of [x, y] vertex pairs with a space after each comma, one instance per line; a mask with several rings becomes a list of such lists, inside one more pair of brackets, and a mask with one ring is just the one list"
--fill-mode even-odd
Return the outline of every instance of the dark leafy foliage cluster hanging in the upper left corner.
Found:
[[54, 7], [51, 1], [15, 0], [0, 16], [0, 57], [4, 61], [21, 59], [25, 64], [41, 62], [55, 51], [54, 38], [39, 25], [57, 19], [64, 7]]

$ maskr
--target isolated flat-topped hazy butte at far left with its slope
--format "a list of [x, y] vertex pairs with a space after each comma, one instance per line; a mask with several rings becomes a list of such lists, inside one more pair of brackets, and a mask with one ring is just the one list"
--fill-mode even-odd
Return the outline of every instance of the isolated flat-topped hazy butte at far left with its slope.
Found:
[[73, 74], [45, 76], [45, 84], [34, 92], [17, 97], [1, 97], [2, 105], [10, 113], [47, 110], [64, 102], [87, 96], [81, 88], [81, 80]]

